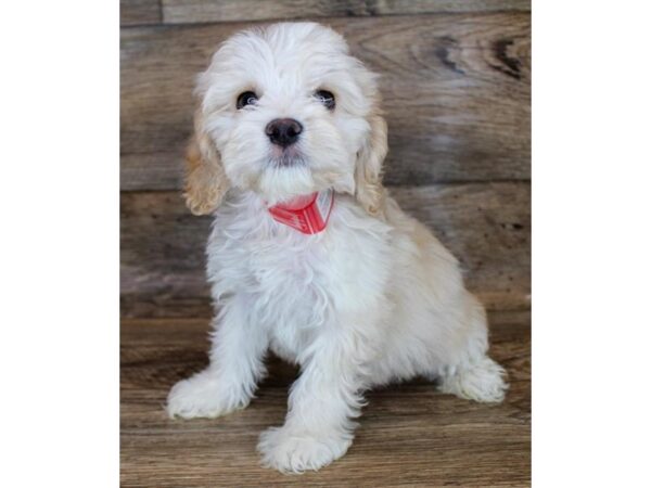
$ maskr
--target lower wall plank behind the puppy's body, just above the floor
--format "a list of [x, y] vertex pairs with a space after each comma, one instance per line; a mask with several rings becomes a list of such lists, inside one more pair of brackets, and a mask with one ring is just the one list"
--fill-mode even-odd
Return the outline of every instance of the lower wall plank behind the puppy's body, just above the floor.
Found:
[[[529, 307], [527, 182], [394, 188], [392, 194], [461, 260], [470, 290], [487, 308]], [[190, 215], [179, 192], [125, 192], [120, 221], [123, 317], [208, 317], [209, 217]]]

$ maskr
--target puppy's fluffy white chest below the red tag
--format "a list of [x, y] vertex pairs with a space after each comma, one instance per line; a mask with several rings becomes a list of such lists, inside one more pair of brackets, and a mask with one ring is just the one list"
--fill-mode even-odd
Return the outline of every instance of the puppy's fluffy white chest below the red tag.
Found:
[[226, 211], [215, 221], [207, 248], [214, 297], [244, 294], [251, 320], [269, 331], [272, 348], [288, 359], [384, 290], [386, 268], [378, 265], [386, 262], [386, 228], [349, 215], [339, 219], [336, 209], [316, 235], [271, 219], [275, 227], [266, 227], [259, 213], [245, 219]]

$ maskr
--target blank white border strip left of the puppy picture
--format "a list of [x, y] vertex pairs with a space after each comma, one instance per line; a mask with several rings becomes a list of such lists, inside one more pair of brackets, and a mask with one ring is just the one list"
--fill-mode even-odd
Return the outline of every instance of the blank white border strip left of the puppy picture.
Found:
[[118, 484], [118, 2], [2, 8], [0, 486]]

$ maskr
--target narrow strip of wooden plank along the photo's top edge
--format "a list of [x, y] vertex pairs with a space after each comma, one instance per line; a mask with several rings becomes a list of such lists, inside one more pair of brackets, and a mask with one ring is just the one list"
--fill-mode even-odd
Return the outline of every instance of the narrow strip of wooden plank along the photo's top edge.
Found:
[[163, 0], [166, 24], [531, 11], [528, 0]]

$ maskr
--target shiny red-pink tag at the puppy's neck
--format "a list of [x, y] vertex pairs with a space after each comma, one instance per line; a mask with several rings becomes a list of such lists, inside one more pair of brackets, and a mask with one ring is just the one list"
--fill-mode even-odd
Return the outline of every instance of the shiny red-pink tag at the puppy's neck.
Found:
[[273, 205], [269, 207], [269, 214], [277, 222], [304, 234], [317, 234], [326, 229], [333, 204], [334, 192], [326, 190]]

